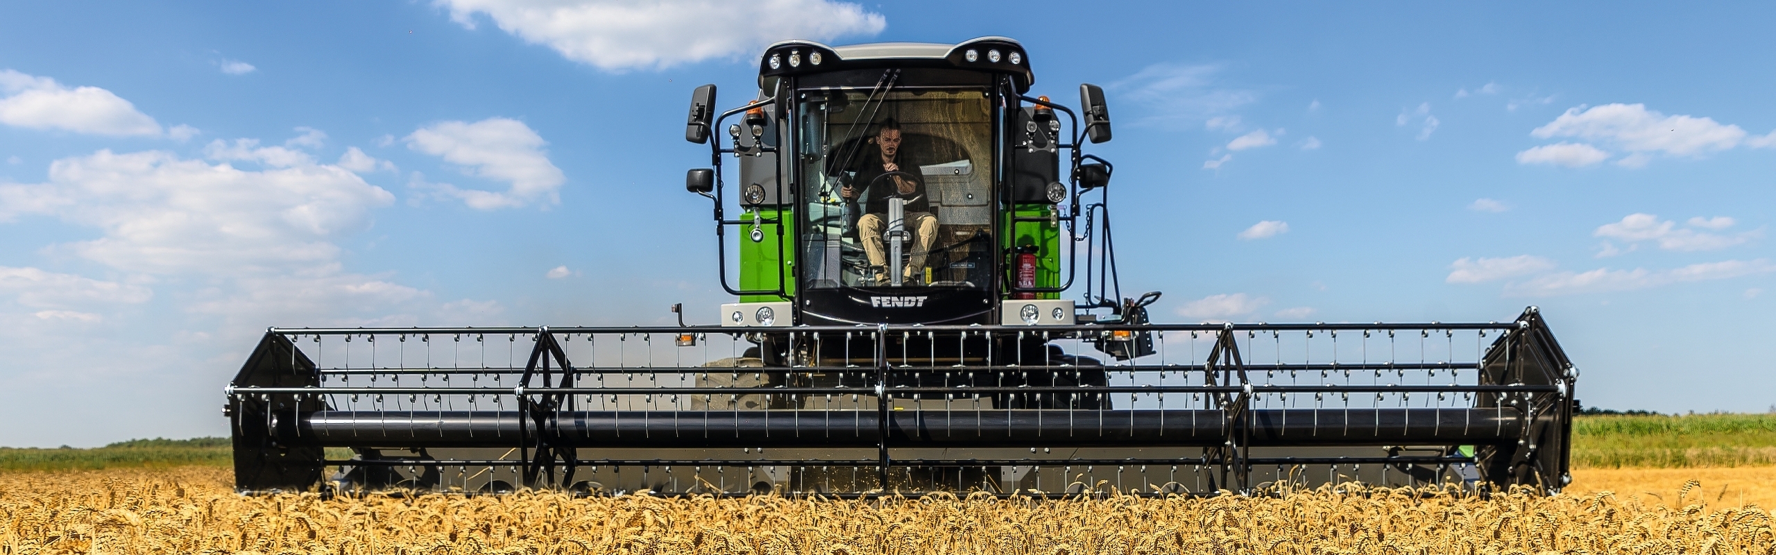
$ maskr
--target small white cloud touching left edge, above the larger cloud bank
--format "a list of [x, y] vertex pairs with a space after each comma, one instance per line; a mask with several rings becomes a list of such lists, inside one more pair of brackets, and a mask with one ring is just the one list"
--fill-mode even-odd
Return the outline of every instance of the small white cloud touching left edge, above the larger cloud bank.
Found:
[[64, 87], [48, 76], [0, 71], [0, 123], [94, 135], [160, 135], [155, 117], [99, 87]]

